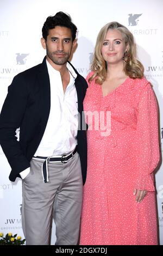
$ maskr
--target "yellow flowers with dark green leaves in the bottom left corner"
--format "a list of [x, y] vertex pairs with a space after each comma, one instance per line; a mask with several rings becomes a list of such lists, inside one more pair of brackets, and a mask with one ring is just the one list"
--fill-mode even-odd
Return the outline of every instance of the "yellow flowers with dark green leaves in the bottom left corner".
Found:
[[12, 233], [8, 233], [3, 236], [3, 233], [0, 233], [0, 245], [23, 245], [26, 239], [22, 239], [21, 236], [12, 235]]

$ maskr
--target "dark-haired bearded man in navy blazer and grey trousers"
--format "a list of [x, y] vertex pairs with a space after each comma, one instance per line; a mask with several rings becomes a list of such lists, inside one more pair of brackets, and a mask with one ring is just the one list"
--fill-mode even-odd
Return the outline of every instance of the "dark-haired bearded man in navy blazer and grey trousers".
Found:
[[71, 17], [61, 11], [47, 18], [41, 38], [46, 57], [14, 77], [0, 116], [0, 143], [12, 169], [9, 179], [23, 180], [27, 245], [49, 244], [52, 217], [56, 245], [78, 241], [86, 179], [86, 133], [81, 127], [87, 83], [68, 62], [76, 32]]

